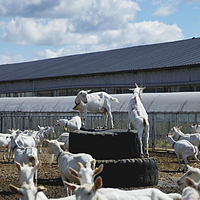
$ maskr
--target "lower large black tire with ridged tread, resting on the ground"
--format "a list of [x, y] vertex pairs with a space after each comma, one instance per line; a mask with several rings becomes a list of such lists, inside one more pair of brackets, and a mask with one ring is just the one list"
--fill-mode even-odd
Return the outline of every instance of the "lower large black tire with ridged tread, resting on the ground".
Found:
[[97, 166], [100, 164], [104, 164], [100, 174], [104, 187], [131, 188], [158, 184], [157, 158], [97, 160]]

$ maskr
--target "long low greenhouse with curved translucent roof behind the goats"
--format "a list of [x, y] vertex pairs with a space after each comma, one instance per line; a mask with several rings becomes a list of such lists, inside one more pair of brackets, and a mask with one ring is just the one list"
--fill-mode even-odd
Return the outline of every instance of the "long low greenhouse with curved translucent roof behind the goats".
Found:
[[[132, 93], [113, 94], [119, 103], [112, 103], [115, 129], [127, 129], [128, 104]], [[55, 126], [60, 118], [70, 119], [79, 115], [73, 107], [75, 96], [0, 98], [0, 132], [8, 129], [34, 129], [40, 126]], [[190, 132], [191, 123], [200, 123], [200, 92], [143, 93], [142, 102], [149, 115], [150, 141], [152, 148], [166, 146], [166, 134], [173, 126], [182, 126]], [[102, 126], [101, 113], [88, 113], [88, 128]], [[55, 127], [57, 138], [63, 130]]]

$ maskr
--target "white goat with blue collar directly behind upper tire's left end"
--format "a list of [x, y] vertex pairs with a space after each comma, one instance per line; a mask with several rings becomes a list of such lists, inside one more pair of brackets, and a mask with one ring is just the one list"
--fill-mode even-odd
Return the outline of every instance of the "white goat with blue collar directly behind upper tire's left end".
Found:
[[74, 116], [70, 120], [59, 119], [56, 121], [56, 126], [60, 126], [64, 130], [67, 129], [68, 132], [80, 130], [81, 128], [81, 118], [79, 116]]

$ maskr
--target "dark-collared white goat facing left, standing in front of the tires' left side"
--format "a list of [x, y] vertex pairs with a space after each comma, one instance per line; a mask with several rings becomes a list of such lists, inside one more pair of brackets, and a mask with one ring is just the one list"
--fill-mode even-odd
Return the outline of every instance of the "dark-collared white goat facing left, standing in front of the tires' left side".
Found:
[[48, 153], [53, 153], [57, 158], [59, 164], [59, 172], [63, 181], [69, 180], [70, 182], [79, 183], [79, 180], [72, 176], [69, 172], [69, 167], [75, 169], [76, 171], [78, 170], [78, 162], [81, 162], [83, 165], [86, 165], [87, 162], [92, 162], [92, 168], [94, 169], [96, 161], [92, 158], [91, 155], [85, 153], [72, 154], [68, 151], [63, 151], [57, 140], [46, 141], [49, 146]]

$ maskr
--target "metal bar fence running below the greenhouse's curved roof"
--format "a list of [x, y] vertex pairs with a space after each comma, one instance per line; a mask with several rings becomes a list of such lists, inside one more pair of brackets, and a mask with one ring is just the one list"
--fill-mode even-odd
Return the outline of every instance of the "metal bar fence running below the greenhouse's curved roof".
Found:
[[[40, 112], [2, 112], [0, 115], [0, 131], [7, 132], [8, 129], [34, 129], [40, 126], [55, 126], [56, 120], [60, 118], [71, 118], [78, 112], [64, 113], [40, 113]], [[114, 125], [116, 129], [127, 129], [127, 112], [113, 112]], [[167, 148], [166, 134], [173, 126], [182, 126], [185, 133], [190, 132], [189, 124], [199, 123], [200, 113], [149, 113], [150, 139], [149, 146], [154, 148]], [[101, 114], [88, 114], [88, 128], [102, 126], [103, 116]], [[110, 124], [108, 124], [109, 127]], [[50, 138], [57, 138], [63, 130], [55, 127], [55, 134]]]

